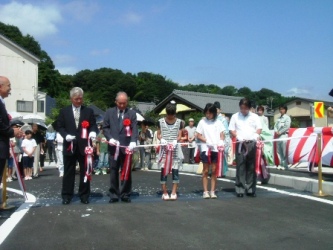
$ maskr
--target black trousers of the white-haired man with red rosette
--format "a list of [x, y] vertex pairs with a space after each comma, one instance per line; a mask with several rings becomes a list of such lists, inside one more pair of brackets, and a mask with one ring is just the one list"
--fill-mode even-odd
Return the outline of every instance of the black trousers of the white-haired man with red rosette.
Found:
[[79, 197], [80, 199], [88, 199], [90, 195], [90, 181], [84, 183], [85, 166], [84, 155], [81, 155], [79, 149], [73, 155], [64, 155], [64, 177], [62, 179], [61, 196], [63, 199], [72, 199], [75, 186], [75, 168], [76, 162], [80, 166], [80, 184]]

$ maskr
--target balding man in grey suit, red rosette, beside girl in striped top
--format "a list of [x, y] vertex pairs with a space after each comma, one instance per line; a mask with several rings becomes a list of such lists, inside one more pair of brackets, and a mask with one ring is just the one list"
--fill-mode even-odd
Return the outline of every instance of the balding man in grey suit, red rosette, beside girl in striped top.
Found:
[[[131, 173], [128, 180], [121, 182], [119, 189], [119, 169], [122, 167], [126, 157], [125, 148], [120, 147], [117, 159], [114, 156], [117, 148], [116, 145], [127, 146], [131, 150], [135, 148], [138, 138], [136, 112], [127, 108], [128, 97], [125, 92], [117, 94], [115, 103], [116, 107], [106, 111], [103, 122], [104, 135], [109, 142], [110, 203], [118, 202], [119, 198], [123, 202], [131, 202]], [[124, 126], [124, 121], [130, 123], [128, 128]], [[129, 128], [130, 133], [128, 133]]]

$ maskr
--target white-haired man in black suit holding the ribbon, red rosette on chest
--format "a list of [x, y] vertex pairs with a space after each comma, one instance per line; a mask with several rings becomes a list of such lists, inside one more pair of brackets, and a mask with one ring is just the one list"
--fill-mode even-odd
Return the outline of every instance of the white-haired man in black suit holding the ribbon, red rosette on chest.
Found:
[[[80, 165], [79, 196], [81, 202], [89, 203], [90, 182], [85, 183], [85, 148], [88, 140], [94, 141], [98, 131], [92, 109], [82, 106], [83, 90], [75, 87], [70, 91], [72, 105], [60, 111], [57, 121], [58, 132], [64, 138], [64, 177], [62, 182], [62, 203], [69, 204], [74, 193], [76, 162]], [[82, 122], [88, 122], [87, 137], [82, 138], [84, 128]], [[88, 136], [89, 135], [89, 136]]]

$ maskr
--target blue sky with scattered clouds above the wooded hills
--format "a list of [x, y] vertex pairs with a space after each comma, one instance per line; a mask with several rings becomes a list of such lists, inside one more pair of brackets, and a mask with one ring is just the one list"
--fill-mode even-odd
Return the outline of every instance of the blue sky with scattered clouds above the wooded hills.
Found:
[[333, 101], [331, 0], [0, 0], [62, 74], [108, 67], [181, 85]]

